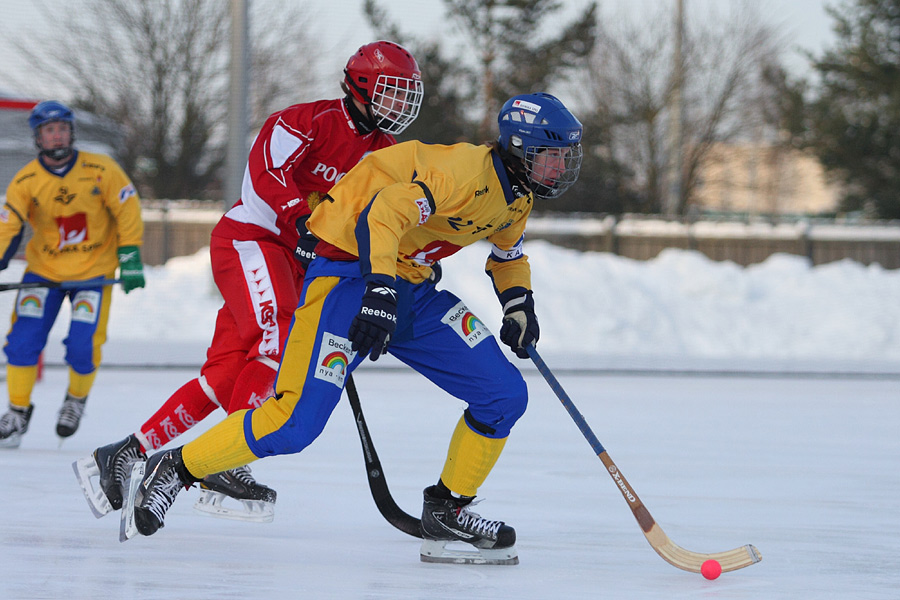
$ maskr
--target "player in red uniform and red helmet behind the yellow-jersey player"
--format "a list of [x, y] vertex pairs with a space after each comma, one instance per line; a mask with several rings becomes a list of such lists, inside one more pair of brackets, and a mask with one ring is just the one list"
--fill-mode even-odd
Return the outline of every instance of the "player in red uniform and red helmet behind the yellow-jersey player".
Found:
[[[366, 154], [393, 145], [415, 120], [421, 72], [392, 42], [362, 46], [344, 69], [336, 100], [272, 114], [250, 150], [241, 198], [213, 229], [210, 258], [224, 305], [200, 376], [178, 389], [141, 428], [73, 464], [99, 518], [122, 506], [126, 466], [162, 447], [217, 407], [231, 414], [273, 395], [281, 349], [305, 272], [305, 222], [314, 203]], [[310, 256], [306, 256], [308, 264]], [[91, 478], [99, 478], [99, 490]], [[197, 508], [229, 518], [270, 521], [275, 491], [246, 467], [210, 475]], [[240, 500], [239, 509], [223, 505]]]

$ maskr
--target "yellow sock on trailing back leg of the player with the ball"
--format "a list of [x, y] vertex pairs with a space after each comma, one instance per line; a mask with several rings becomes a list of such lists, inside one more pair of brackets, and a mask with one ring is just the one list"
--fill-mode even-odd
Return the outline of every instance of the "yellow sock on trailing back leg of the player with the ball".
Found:
[[198, 479], [253, 462], [257, 456], [244, 439], [244, 415], [236, 411], [181, 450], [184, 466]]

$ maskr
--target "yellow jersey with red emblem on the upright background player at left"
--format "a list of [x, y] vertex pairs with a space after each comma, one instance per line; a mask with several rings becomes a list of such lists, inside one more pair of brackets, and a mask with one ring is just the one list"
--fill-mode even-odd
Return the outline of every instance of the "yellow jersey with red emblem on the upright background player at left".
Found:
[[140, 246], [141, 204], [116, 162], [76, 151], [62, 171], [34, 159], [16, 173], [0, 209], [0, 256], [28, 222], [27, 270], [53, 281], [109, 276], [119, 246]]

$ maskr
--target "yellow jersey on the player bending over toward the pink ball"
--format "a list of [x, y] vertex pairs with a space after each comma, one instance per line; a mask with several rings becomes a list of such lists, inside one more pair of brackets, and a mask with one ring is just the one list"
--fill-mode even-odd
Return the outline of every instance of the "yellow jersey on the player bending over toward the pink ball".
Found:
[[486, 269], [502, 293], [531, 289], [522, 242], [532, 206], [531, 193], [510, 182], [490, 147], [409, 141], [363, 158], [307, 227], [327, 244], [320, 254], [333, 246], [358, 257], [364, 276], [412, 283], [427, 279], [437, 260], [486, 238], [493, 244]]

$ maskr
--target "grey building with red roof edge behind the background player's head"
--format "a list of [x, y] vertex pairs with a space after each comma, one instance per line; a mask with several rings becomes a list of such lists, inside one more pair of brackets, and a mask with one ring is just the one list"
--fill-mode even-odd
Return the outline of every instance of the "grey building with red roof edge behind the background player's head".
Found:
[[[37, 156], [28, 115], [38, 100], [0, 92], [0, 196], [13, 176]], [[118, 159], [122, 134], [115, 123], [93, 113], [75, 110], [75, 147]]]

